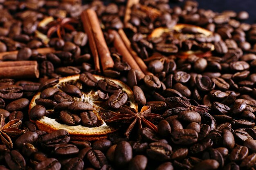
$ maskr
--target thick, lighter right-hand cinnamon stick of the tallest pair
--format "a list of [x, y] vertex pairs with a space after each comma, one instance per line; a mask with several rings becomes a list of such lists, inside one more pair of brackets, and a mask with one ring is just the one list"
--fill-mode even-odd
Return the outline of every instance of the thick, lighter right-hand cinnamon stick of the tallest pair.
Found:
[[114, 61], [110, 55], [110, 51], [104, 39], [104, 35], [101, 30], [101, 26], [99, 25], [99, 19], [97, 17], [96, 12], [92, 9], [87, 9], [86, 12], [87, 12], [90, 24], [92, 26], [92, 34], [94, 36], [99, 57], [101, 59], [101, 66], [104, 72], [108, 68], [114, 67]]

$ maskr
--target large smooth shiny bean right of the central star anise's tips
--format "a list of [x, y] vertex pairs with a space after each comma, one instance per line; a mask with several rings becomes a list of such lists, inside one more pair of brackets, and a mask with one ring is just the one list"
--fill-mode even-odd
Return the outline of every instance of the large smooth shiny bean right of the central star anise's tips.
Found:
[[197, 122], [200, 123], [201, 122], [201, 116], [199, 113], [195, 112], [195, 111], [182, 111], [179, 115], [178, 115], [178, 119], [187, 122], [187, 123], [191, 123], [191, 122]]

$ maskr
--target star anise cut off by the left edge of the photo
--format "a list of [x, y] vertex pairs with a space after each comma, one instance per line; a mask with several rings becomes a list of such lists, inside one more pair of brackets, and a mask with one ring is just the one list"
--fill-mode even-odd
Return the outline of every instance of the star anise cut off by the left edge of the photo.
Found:
[[22, 121], [14, 119], [5, 124], [4, 115], [0, 115], [0, 139], [4, 145], [9, 148], [13, 147], [11, 137], [19, 136], [25, 133], [25, 130], [20, 130]]

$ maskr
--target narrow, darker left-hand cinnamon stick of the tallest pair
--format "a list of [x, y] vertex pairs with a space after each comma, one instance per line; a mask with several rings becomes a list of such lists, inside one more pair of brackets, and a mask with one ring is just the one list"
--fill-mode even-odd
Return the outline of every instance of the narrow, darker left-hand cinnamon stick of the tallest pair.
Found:
[[81, 20], [83, 22], [83, 29], [88, 35], [89, 45], [90, 45], [90, 49], [92, 51], [92, 56], [93, 56], [93, 59], [94, 59], [95, 70], [98, 73], [100, 73], [101, 68], [100, 68], [100, 65], [99, 65], [99, 54], [97, 52], [97, 46], [96, 46], [94, 36], [93, 36], [93, 33], [92, 33], [92, 25], [90, 24], [90, 21], [89, 21], [89, 18], [88, 18], [88, 15], [87, 15], [86, 11], [83, 11], [81, 13]]

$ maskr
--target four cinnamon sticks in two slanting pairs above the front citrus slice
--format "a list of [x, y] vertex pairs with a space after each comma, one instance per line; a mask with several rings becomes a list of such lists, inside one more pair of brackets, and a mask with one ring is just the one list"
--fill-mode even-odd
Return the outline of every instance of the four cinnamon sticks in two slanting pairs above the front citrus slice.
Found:
[[[98, 72], [101, 71], [99, 64], [99, 62], [101, 62], [103, 73], [106, 75], [108, 69], [113, 68], [114, 61], [112, 60], [104, 39], [97, 14], [94, 10], [87, 9], [81, 14], [81, 20], [83, 22], [83, 28], [88, 34], [90, 49], [94, 57], [95, 70]], [[132, 50], [131, 43], [122, 29], [118, 31], [108, 30], [108, 32], [114, 36], [114, 46], [118, 53], [122, 55], [122, 59], [137, 72], [140, 79], [142, 79], [145, 74], [153, 75], [148, 71], [143, 60]]]

